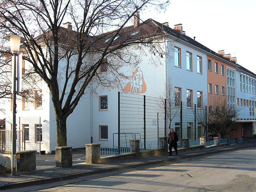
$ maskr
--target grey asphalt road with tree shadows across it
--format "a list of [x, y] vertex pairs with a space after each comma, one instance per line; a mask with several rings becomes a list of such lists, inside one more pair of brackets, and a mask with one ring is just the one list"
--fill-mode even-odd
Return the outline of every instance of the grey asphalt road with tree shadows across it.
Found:
[[[171, 158], [171, 157], [170, 157]], [[49, 184], [39, 191], [80, 192], [80, 191], [256, 191], [256, 151], [255, 148], [232, 151], [213, 156], [185, 159], [179, 163], [116, 173], [98, 175], [97, 179], [73, 184]], [[97, 177], [97, 176], [96, 176]], [[79, 181], [78, 178], [77, 181]], [[51, 188], [52, 186], [52, 188]], [[31, 188], [28, 187], [28, 191]]]

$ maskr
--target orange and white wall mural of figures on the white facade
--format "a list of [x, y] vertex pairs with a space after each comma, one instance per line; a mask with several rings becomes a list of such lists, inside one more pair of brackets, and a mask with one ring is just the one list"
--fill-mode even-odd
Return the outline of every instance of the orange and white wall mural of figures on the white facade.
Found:
[[127, 83], [121, 81], [121, 85], [124, 93], [142, 94], [147, 91], [147, 85], [140, 67], [133, 72], [131, 79]]

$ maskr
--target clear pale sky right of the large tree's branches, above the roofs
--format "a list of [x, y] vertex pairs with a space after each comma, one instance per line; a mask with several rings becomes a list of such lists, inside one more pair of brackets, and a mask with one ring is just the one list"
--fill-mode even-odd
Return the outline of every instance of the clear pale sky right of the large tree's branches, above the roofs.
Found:
[[186, 35], [256, 74], [256, 0], [171, 0], [165, 12], [140, 12], [140, 18], [182, 24]]

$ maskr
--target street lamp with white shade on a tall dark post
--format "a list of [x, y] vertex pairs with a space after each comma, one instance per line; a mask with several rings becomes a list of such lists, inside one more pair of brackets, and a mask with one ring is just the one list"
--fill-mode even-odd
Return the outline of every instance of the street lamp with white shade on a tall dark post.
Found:
[[25, 38], [8, 35], [4, 37], [6, 40], [10, 41], [11, 52], [14, 56], [14, 65], [13, 65], [13, 98], [12, 98], [12, 175], [16, 175], [16, 56], [20, 51], [20, 42], [25, 41]]

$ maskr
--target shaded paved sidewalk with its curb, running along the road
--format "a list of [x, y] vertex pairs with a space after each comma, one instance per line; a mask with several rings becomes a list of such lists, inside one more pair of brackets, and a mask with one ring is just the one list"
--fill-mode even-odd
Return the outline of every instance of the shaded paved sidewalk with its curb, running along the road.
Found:
[[185, 153], [174, 154], [172, 156], [153, 156], [145, 158], [136, 159], [126, 159], [106, 163], [98, 164], [73, 164], [72, 167], [51, 167], [51, 168], [40, 168], [36, 169], [35, 172], [28, 172], [17, 174], [17, 176], [12, 176], [7, 174], [0, 177], [0, 190], [10, 189], [10, 188], [20, 188], [32, 185], [41, 185], [46, 183], [52, 183], [62, 180], [74, 179], [77, 177], [88, 176], [98, 173], [113, 172], [124, 169], [156, 165], [161, 163], [167, 163], [172, 161], [177, 161], [181, 159], [211, 155], [215, 153], [228, 152], [232, 150], [244, 149], [248, 147], [255, 147], [255, 141], [253, 144], [240, 144], [231, 145], [228, 147], [220, 148], [209, 148], [199, 151], [191, 151]]

